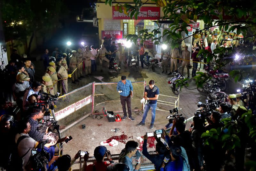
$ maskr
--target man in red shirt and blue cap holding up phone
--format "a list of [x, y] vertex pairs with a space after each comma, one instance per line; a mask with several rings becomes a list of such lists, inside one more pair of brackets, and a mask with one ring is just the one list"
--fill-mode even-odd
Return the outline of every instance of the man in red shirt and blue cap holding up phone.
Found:
[[[84, 155], [84, 165], [81, 170], [84, 170], [84, 171], [94, 171], [94, 170], [106, 171], [108, 165], [110, 165], [111, 163], [114, 163], [114, 161], [111, 159], [110, 152], [107, 150], [107, 148], [105, 146], [97, 146], [94, 149], [93, 156], [96, 159], [95, 162], [93, 164], [90, 164], [87, 166], [87, 160], [89, 158], [89, 153], [87, 152], [87, 154]], [[107, 163], [106, 161], [104, 161], [104, 158], [106, 156], [110, 163]]]

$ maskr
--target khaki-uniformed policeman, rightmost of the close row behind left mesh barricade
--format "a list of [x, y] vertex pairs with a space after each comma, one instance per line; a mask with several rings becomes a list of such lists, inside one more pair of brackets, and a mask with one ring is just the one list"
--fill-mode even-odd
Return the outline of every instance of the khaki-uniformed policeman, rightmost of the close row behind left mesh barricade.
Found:
[[67, 65], [67, 61], [61, 61], [61, 67], [59, 71], [57, 72], [57, 75], [59, 77], [61, 82], [62, 90], [60, 91], [60, 94], [67, 94], [68, 93], [68, 71], [65, 69], [65, 66]]

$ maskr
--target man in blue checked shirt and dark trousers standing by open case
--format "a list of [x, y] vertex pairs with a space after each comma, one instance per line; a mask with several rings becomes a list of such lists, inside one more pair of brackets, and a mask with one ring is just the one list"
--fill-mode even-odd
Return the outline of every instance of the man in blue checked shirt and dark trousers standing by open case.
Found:
[[131, 121], [134, 121], [134, 119], [132, 118], [132, 110], [131, 110], [131, 97], [132, 97], [132, 91], [133, 91], [132, 82], [130, 80], [126, 80], [126, 76], [123, 75], [121, 76], [121, 81], [117, 83], [116, 90], [120, 94], [120, 100], [121, 100], [121, 104], [124, 112], [124, 117], [122, 118], [122, 120], [127, 118], [126, 107], [125, 107], [125, 102], [126, 102], [129, 119]]

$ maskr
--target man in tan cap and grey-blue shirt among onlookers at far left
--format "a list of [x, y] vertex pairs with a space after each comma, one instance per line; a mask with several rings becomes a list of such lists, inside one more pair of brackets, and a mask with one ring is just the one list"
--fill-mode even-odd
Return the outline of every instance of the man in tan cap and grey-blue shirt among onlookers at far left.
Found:
[[19, 107], [22, 107], [22, 100], [25, 92], [30, 88], [30, 78], [25, 74], [18, 74], [16, 76], [16, 83], [13, 85], [13, 96], [16, 98]]

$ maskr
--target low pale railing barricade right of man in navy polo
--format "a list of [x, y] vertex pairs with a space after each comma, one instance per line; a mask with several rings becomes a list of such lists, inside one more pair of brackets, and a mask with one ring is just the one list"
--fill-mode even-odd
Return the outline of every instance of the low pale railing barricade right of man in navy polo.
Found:
[[179, 107], [179, 103], [180, 103], [180, 95], [178, 95], [178, 97], [175, 97], [175, 96], [166, 96], [166, 95], [159, 94], [157, 99], [156, 110], [166, 111], [169, 113], [170, 109]]

